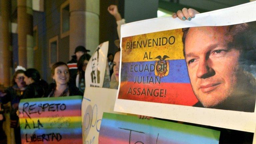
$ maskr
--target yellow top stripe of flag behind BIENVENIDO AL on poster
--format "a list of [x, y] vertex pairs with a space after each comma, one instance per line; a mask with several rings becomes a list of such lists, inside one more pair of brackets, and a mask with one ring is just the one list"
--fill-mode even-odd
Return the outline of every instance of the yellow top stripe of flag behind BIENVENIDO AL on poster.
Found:
[[122, 62], [155, 61], [159, 55], [170, 57], [165, 60], [185, 59], [182, 35], [182, 29], [176, 29], [125, 37]]

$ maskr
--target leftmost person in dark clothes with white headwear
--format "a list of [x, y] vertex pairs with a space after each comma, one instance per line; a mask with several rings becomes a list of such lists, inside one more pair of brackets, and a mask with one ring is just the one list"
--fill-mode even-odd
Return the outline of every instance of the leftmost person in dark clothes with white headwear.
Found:
[[14, 129], [14, 137], [16, 143], [21, 143], [20, 126], [18, 124], [19, 117], [16, 115], [19, 102], [23, 98], [24, 91], [26, 90], [26, 83], [24, 82], [26, 69], [22, 66], [17, 66], [12, 76], [12, 83], [9, 88], [3, 91], [0, 95], [0, 103], [6, 104], [11, 102], [10, 111], [10, 127]]

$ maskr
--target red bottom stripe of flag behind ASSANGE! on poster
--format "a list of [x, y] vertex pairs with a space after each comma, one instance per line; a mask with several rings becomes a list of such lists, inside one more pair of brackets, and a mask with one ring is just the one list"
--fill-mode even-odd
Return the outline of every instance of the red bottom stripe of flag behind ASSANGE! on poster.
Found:
[[[138, 88], [140, 88], [140, 92], [138, 92]], [[143, 88], [146, 94], [142, 93]], [[152, 94], [152, 90], [155, 90], [154, 94]], [[138, 84], [121, 82], [118, 98], [186, 106], [193, 106], [198, 102], [190, 83]]]

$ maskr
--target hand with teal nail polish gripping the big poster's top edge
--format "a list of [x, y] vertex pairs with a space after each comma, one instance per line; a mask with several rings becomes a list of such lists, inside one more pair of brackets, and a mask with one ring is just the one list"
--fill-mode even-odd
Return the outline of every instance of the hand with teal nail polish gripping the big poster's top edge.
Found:
[[182, 10], [178, 10], [176, 13], [172, 14], [172, 18], [176, 18], [178, 17], [179, 19], [181, 19], [182, 21], [185, 20], [189, 20], [191, 21], [192, 18], [195, 18], [195, 15], [199, 14], [198, 11], [196, 11], [195, 9], [192, 8], [183, 8]]

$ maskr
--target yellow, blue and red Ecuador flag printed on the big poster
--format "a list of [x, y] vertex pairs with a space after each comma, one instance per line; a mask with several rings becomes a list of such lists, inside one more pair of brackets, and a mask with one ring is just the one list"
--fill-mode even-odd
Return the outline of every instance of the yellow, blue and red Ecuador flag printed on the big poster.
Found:
[[182, 29], [122, 38], [118, 99], [193, 106]]

